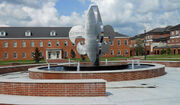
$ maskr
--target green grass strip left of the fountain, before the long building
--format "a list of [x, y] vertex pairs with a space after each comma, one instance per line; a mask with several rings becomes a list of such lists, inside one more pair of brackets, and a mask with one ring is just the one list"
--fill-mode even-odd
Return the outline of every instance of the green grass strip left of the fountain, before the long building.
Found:
[[[35, 61], [33, 60], [0, 61], [0, 65], [11, 65], [12, 63], [35, 64]], [[40, 61], [40, 63], [45, 63], [45, 60]]]

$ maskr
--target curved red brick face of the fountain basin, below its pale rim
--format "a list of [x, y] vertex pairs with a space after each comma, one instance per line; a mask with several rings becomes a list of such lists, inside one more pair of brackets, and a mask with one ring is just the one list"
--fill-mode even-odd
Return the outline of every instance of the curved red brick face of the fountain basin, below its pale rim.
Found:
[[91, 72], [91, 73], [47, 73], [29, 71], [31, 79], [104, 79], [110, 81], [125, 81], [146, 79], [165, 74], [165, 68], [155, 68], [150, 70], [127, 71], [127, 72]]

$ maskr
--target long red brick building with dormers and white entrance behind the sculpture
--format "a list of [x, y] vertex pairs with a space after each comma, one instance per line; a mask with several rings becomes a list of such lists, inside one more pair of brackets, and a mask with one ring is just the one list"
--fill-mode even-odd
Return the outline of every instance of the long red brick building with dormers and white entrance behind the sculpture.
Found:
[[[36, 47], [44, 59], [71, 58], [71, 50], [76, 57], [76, 44], [69, 40], [71, 27], [0, 27], [0, 60], [31, 60]], [[108, 38], [105, 36], [105, 40]], [[109, 53], [103, 57], [130, 56], [130, 40], [126, 35], [116, 33]]]

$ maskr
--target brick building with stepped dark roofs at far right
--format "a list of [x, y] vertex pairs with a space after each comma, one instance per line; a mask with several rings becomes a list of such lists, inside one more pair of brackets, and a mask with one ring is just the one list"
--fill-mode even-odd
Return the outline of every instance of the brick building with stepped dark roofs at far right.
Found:
[[136, 47], [136, 39], [139, 38], [146, 41], [146, 54], [159, 55], [162, 50], [171, 49], [171, 54], [180, 54], [180, 24], [176, 26], [168, 26], [164, 28], [155, 28], [145, 34], [139, 34], [132, 38], [130, 48], [131, 55], [136, 55], [134, 49]]

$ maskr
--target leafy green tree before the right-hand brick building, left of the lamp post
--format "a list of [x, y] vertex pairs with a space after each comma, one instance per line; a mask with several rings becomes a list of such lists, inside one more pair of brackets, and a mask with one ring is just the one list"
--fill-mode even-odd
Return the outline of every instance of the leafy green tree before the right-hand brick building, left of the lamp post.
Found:
[[135, 46], [135, 52], [136, 55], [143, 55], [144, 54], [144, 45], [143, 41], [141, 39], [136, 39], [136, 46]]

